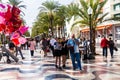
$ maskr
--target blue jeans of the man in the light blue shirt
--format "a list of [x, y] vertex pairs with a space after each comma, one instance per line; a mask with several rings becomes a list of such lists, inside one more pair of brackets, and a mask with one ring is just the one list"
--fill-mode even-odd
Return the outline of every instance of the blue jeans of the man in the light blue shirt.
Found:
[[[70, 52], [70, 56], [71, 56], [71, 60], [72, 60], [73, 69], [76, 69], [78, 67], [78, 69], [82, 70], [80, 53], [79, 52], [78, 53], [71, 53]], [[77, 61], [77, 66], [75, 64], [75, 61]]]

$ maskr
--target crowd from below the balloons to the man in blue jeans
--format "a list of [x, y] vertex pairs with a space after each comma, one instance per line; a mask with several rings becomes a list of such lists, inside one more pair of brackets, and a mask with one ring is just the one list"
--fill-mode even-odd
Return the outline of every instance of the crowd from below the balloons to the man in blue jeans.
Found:
[[[70, 51], [73, 70], [77, 68], [82, 70], [79, 53], [79, 40], [77, 40], [74, 35], [72, 35], [70, 39], [65, 39], [65, 37], [42, 38], [39, 42], [36, 42], [34, 38], [31, 38], [27, 40], [25, 44], [17, 46], [15, 46], [12, 41], [10, 41], [8, 46], [10, 52], [14, 53], [16, 57], [18, 54], [20, 54], [21, 59], [25, 59], [22, 49], [28, 49], [30, 51], [31, 57], [34, 57], [34, 51], [39, 48], [44, 51], [44, 57], [47, 57], [48, 52], [51, 51], [53, 58], [55, 58], [55, 67], [60, 70], [66, 67], [66, 60], [69, 57]], [[77, 61], [77, 66], [75, 61]]]

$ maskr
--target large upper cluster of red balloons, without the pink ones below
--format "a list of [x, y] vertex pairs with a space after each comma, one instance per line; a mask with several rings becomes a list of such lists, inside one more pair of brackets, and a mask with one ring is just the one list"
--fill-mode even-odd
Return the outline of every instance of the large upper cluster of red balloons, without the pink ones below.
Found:
[[20, 18], [20, 9], [8, 4], [0, 4], [0, 30], [5, 33], [12, 33], [19, 29], [22, 20]]

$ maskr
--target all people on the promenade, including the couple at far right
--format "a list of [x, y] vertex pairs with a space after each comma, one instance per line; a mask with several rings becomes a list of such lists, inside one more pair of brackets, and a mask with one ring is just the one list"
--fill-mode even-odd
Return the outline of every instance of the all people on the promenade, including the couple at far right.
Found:
[[[53, 58], [55, 58], [56, 69], [62, 70], [66, 68], [67, 58], [70, 57], [72, 61], [73, 70], [82, 70], [81, 58], [82, 55], [87, 55], [89, 52], [89, 40], [77, 39], [73, 34], [69, 39], [63, 38], [42, 38], [40, 41], [36, 41], [34, 38], [27, 40], [24, 45], [15, 46], [12, 41], [9, 42], [9, 50], [16, 53], [17, 57], [20, 54], [22, 59], [25, 59], [22, 49], [28, 49], [30, 51], [31, 57], [34, 57], [34, 51], [36, 49], [41, 49], [44, 52], [44, 57], [47, 57], [48, 52], [51, 52]], [[82, 45], [83, 50], [80, 50], [80, 45]], [[103, 49], [103, 56], [107, 58], [108, 52], [107, 48], [110, 49], [111, 58], [114, 57], [114, 47], [116, 46], [114, 41], [109, 38], [104, 37], [101, 40], [101, 48]], [[9, 57], [8, 57], [9, 58]], [[76, 64], [77, 63], [77, 64]]]

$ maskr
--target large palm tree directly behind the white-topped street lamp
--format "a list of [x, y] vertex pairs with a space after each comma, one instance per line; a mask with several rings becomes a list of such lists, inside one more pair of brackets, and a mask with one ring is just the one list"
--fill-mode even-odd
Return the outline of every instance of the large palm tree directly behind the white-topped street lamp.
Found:
[[106, 4], [107, 0], [104, 0], [102, 2], [100, 2], [100, 0], [89, 0], [89, 1], [85, 1], [85, 0], [79, 0], [80, 1], [80, 5], [81, 8], [79, 9], [79, 16], [81, 17], [81, 19], [79, 21], [77, 21], [76, 23], [80, 23], [82, 25], [86, 25], [89, 26], [90, 21], [89, 21], [89, 14], [87, 13], [87, 10], [89, 8], [89, 6], [91, 6], [91, 8], [93, 9], [93, 14], [91, 15], [91, 25], [92, 25], [92, 52], [95, 54], [95, 33], [96, 33], [96, 27], [98, 23], [101, 23], [104, 19], [104, 17], [108, 14], [102, 14], [102, 8], [104, 7], [104, 5]]

